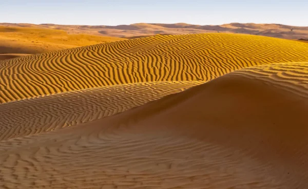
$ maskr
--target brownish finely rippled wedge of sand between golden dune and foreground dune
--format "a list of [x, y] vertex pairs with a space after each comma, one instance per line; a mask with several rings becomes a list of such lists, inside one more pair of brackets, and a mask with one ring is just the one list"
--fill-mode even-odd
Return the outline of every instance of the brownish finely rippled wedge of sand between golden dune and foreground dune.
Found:
[[3, 103], [0, 104], [0, 141], [111, 116], [202, 83], [122, 84]]

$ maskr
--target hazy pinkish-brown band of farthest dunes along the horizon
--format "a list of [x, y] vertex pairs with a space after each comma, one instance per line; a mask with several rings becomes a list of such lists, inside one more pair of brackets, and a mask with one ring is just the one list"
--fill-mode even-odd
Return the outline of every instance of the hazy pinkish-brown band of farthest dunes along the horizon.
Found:
[[31, 27], [61, 29], [68, 33], [87, 33], [92, 35], [107, 35], [124, 38], [136, 38], [152, 36], [156, 34], [192, 34], [208, 32], [244, 33], [279, 37], [283, 39], [298, 40], [308, 39], [308, 27], [287, 26], [281, 24], [254, 24], [254, 23], [230, 23], [223, 25], [192, 25], [177, 24], [146, 24], [138, 23], [119, 26], [79, 26], [79, 25], [55, 25], [55, 24], [11, 24], [0, 23], [0, 26]]

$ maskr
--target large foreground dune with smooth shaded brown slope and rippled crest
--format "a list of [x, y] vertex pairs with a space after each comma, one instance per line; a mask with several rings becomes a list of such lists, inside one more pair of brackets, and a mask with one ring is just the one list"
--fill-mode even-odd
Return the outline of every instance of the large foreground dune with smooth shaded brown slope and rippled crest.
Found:
[[307, 188], [307, 78], [307, 63], [247, 68], [118, 115], [1, 141], [0, 187]]

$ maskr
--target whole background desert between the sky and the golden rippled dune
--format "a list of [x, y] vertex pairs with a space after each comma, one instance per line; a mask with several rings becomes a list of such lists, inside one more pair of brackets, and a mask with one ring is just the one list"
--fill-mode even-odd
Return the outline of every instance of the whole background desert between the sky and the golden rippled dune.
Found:
[[157, 34], [213, 32], [263, 35], [301, 42], [308, 40], [308, 27], [281, 24], [230, 23], [201, 26], [185, 23], [139, 23], [119, 26], [84, 26], [0, 23], [0, 60], [15, 58], [22, 54], [36, 54]]

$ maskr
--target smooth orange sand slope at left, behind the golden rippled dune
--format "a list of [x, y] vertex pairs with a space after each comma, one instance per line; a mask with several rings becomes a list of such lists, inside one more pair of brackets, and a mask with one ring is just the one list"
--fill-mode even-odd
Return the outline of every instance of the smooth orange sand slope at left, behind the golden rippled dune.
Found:
[[0, 60], [4, 53], [35, 54], [123, 40], [119, 37], [68, 34], [63, 30], [0, 26]]

